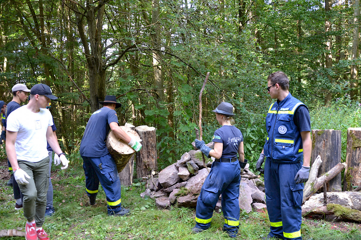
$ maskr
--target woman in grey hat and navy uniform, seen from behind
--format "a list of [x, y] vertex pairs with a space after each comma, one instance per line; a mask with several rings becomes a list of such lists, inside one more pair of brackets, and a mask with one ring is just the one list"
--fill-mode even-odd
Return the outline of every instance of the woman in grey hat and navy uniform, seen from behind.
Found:
[[243, 136], [238, 128], [232, 126], [234, 124], [232, 104], [222, 102], [213, 112], [216, 113], [216, 119], [222, 126], [214, 132], [212, 140], [214, 149], [206, 146], [204, 141], [195, 140], [196, 147], [205, 156], [214, 157], [216, 160], [197, 199], [196, 226], [192, 231], [198, 233], [209, 228], [213, 210], [219, 195], [222, 194], [222, 211], [225, 219], [222, 230], [230, 237], [236, 237], [239, 228], [240, 173], [247, 163], [244, 162]]

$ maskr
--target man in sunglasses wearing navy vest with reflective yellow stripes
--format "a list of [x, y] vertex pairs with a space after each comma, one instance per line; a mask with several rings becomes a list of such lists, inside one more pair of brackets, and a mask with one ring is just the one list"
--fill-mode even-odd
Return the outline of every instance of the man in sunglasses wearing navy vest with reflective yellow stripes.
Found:
[[274, 72], [267, 80], [267, 91], [277, 101], [268, 109], [268, 136], [256, 163], [257, 170], [264, 172], [271, 225], [264, 239], [301, 240], [303, 183], [308, 180], [312, 146], [310, 115], [288, 91], [286, 74]]

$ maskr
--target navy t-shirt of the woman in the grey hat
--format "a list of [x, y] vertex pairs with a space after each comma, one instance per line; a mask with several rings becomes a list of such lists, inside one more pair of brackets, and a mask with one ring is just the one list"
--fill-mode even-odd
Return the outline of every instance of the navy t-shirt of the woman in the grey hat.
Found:
[[214, 132], [212, 141], [223, 143], [222, 158], [235, 158], [243, 135], [235, 126], [224, 125]]

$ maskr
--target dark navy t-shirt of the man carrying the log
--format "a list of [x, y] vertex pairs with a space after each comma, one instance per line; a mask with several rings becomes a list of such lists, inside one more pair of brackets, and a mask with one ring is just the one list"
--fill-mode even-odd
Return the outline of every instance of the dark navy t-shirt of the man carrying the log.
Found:
[[102, 157], [109, 153], [105, 146], [109, 124], [118, 123], [115, 110], [103, 107], [91, 115], [80, 143], [80, 155], [84, 157]]

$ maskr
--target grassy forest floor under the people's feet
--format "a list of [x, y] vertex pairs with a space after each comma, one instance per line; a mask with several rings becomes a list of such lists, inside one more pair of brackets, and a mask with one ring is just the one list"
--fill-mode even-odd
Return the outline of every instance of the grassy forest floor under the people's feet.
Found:
[[[25, 218], [22, 210], [14, 210], [12, 188], [6, 186], [6, 164], [0, 166], [0, 230], [18, 228], [24, 231]], [[71, 162], [69, 169], [61, 171], [52, 167], [54, 186], [54, 208], [56, 213], [45, 219], [43, 225], [52, 240], [204, 240], [230, 239], [221, 230], [222, 214], [215, 213], [209, 230], [192, 234], [195, 224], [195, 209], [173, 207], [170, 210], [157, 209], [153, 199], [142, 199], [139, 194], [145, 190], [143, 184], [122, 187], [122, 205], [131, 209], [128, 217], [113, 217], [106, 214], [105, 194], [101, 187], [97, 204], [89, 205], [84, 191], [85, 177], [78, 159]], [[303, 219], [301, 234], [304, 240], [361, 240], [361, 225], [355, 223], [334, 223], [322, 220]], [[238, 239], [262, 239], [269, 231], [266, 212], [241, 212]], [[23, 237], [3, 237], [1, 240], [23, 240]]]

